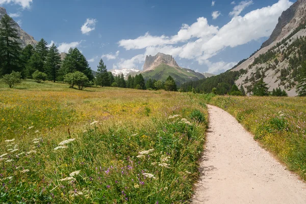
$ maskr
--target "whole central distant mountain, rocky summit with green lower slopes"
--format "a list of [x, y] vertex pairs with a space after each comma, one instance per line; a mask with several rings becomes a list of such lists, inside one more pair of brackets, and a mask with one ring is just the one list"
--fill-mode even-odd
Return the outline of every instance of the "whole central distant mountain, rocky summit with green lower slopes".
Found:
[[180, 67], [171, 55], [160, 52], [155, 56], [146, 56], [141, 73], [145, 79], [151, 78], [162, 81], [165, 81], [170, 75], [178, 85], [205, 78], [201, 73]]

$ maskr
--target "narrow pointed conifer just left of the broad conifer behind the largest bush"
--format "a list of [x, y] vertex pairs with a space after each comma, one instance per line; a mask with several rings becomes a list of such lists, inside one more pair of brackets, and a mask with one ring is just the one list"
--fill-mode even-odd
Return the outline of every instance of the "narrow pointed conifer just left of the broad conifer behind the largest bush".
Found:
[[59, 50], [53, 43], [50, 47], [47, 56], [46, 56], [46, 62], [45, 62], [45, 72], [48, 75], [48, 79], [55, 80], [58, 77], [58, 71], [61, 68], [61, 55], [59, 53]]

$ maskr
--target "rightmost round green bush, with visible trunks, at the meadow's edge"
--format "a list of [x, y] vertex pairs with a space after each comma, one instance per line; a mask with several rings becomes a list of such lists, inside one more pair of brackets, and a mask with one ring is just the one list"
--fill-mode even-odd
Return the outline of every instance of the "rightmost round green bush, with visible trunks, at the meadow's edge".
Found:
[[79, 71], [66, 74], [64, 82], [70, 85], [69, 88], [73, 88], [75, 84], [78, 85], [79, 90], [83, 90], [92, 84], [92, 82], [89, 82], [88, 77]]

